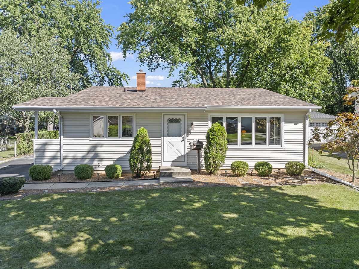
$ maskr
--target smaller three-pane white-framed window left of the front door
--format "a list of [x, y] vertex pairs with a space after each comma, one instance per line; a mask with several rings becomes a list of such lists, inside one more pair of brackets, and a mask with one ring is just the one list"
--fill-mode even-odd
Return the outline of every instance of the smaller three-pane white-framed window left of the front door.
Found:
[[93, 114], [92, 138], [133, 138], [134, 115]]

